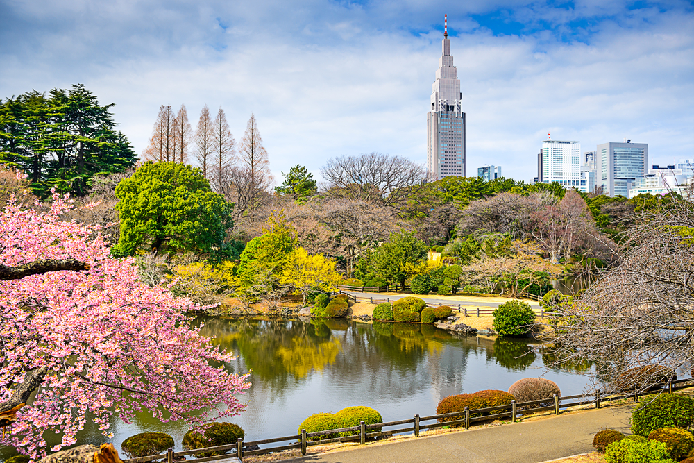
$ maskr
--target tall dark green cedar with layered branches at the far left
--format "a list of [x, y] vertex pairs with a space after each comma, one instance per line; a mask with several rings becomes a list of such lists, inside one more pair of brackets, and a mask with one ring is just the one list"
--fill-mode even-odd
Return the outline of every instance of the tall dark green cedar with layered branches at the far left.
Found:
[[101, 106], [84, 85], [45, 94], [27, 92], [0, 103], [0, 162], [22, 169], [36, 194], [55, 187], [85, 194], [94, 174], [135, 163], [126, 137], [115, 131], [112, 104]]

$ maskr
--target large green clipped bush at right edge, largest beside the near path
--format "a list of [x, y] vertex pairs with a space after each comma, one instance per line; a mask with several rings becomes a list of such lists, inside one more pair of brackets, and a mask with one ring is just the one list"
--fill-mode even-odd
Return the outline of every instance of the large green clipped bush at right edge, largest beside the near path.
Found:
[[648, 436], [660, 428], [687, 429], [694, 423], [694, 400], [679, 394], [644, 397], [632, 412], [632, 433]]

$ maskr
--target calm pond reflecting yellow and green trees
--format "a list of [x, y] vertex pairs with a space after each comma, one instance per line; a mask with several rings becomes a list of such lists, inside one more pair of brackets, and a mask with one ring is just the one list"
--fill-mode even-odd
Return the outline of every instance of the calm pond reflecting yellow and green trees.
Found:
[[[238, 355], [230, 370], [252, 371], [253, 386], [239, 396], [247, 410], [228, 420], [244, 428], [246, 440], [292, 435], [306, 416], [350, 405], [373, 407], [385, 421], [435, 414], [445, 396], [507, 390], [516, 380], [545, 373], [549, 362], [538, 343], [533, 351], [530, 339], [457, 339], [430, 325], [217, 317], [196, 323], [201, 321], [202, 335]], [[579, 373], [550, 369], [545, 378], [564, 395], [581, 394], [586, 380]], [[110, 431], [119, 451], [127, 437], [153, 431], [172, 435], [180, 450], [187, 426], [139, 414], [130, 424], [113, 419]], [[49, 444], [58, 440], [46, 438]], [[79, 444], [103, 439], [95, 426], [78, 435]], [[13, 449], [0, 447], [0, 460], [11, 455]]]

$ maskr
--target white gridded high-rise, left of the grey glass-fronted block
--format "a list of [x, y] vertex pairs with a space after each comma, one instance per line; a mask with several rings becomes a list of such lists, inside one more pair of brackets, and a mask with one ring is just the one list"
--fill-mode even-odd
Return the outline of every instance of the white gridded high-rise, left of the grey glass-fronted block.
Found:
[[542, 142], [542, 161], [538, 168], [541, 183], [557, 182], [564, 187], [581, 186], [581, 143], [561, 140]]

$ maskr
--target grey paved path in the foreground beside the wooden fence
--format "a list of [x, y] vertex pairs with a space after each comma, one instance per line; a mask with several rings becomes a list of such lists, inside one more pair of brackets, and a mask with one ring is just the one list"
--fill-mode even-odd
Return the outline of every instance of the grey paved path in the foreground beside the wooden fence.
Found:
[[307, 455], [294, 463], [538, 463], [593, 451], [604, 428], [629, 433], [629, 407], [610, 407], [525, 423], [371, 444]]

